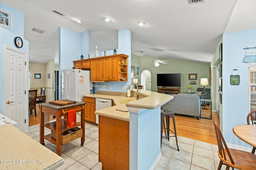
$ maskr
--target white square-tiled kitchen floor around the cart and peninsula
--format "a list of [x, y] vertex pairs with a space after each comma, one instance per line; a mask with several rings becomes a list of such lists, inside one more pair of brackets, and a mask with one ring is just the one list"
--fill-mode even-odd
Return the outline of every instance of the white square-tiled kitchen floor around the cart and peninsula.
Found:
[[[30, 126], [29, 129], [27, 135], [39, 142], [39, 125]], [[50, 130], [45, 128], [45, 134], [49, 133]], [[80, 139], [62, 146], [60, 156], [64, 159], [64, 165], [58, 170], [101, 170], [101, 163], [98, 162], [98, 126], [86, 123], [85, 133], [83, 147], [80, 146]], [[180, 151], [177, 150], [174, 137], [170, 141], [163, 138], [162, 157], [155, 170], [217, 170], [220, 161], [217, 145], [185, 137], [178, 137], [178, 145]], [[56, 145], [47, 140], [45, 147], [56, 152]], [[225, 168], [222, 165], [222, 170]]]

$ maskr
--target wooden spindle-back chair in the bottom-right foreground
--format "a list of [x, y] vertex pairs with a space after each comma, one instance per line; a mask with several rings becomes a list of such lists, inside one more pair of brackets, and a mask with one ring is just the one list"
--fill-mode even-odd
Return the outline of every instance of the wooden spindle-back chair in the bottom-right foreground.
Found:
[[228, 146], [220, 131], [220, 127], [214, 116], [213, 121], [218, 143], [218, 156], [220, 158], [218, 170], [221, 169], [222, 164], [226, 165], [226, 170], [229, 170], [230, 167], [232, 170], [234, 170], [234, 168], [240, 170], [255, 169], [256, 155], [250, 152], [245, 152], [243, 150], [228, 149]]

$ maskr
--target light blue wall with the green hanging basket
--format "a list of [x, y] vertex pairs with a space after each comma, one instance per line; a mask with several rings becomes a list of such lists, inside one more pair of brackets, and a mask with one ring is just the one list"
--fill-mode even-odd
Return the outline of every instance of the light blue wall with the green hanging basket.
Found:
[[[223, 87], [222, 116], [223, 136], [226, 143], [249, 146], [232, 131], [236, 125], [246, 123], [248, 110], [248, 64], [242, 63], [246, 46], [256, 45], [256, 29], [226, 33], [223, 35]], [[238, 69], [240, 85], [230, 85], [230, 73]]]

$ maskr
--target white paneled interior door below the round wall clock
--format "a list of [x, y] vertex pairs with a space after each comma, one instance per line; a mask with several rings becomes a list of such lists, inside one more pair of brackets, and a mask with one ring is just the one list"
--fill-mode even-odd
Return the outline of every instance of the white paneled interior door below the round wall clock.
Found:
[[26, 132], [25, 119], [28, 116], [28, 76], [25, 62], [27, 63], [25, 52], [8, 46], [4, 47], [4, 92], [6, 101], [4, 115], [16, 121], [18, 123], [16, 127], [23, 132]]

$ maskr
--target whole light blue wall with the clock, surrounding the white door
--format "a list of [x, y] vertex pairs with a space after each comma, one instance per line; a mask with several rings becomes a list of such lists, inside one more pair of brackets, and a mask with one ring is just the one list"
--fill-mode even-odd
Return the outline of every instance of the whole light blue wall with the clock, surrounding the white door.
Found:
[[23, 47], [19, 50], [28, 54], [28, 41], [24, 39], [24, 13], [0, 4], [0, 8], [8, 12], [12, 12], [12, 29], [0, 27], [0, 113], [4, 113], [4, 45], [14, 47], [14, 38], [21, 37], [23, 40]]

